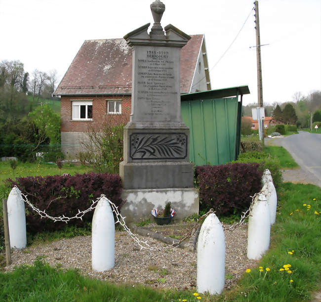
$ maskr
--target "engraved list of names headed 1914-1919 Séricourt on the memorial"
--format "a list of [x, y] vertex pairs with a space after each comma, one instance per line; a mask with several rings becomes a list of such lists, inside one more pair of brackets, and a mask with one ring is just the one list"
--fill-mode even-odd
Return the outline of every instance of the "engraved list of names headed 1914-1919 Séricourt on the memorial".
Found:
[[175, 119], [179, 94], [176, 59], [176, 51], [169, 47], [144, 47], [138, 52], [135, 84], [138, 114], [144, 120]]

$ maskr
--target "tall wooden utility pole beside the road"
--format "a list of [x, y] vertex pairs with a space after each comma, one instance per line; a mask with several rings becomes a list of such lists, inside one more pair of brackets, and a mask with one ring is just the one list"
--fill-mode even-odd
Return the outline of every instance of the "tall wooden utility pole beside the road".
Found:
[[[255, 10], [255, 33], [256, 33], [256, 66], [257, 66], [257, 104], [263, 107], [262, 90], [262, 66], [261, 66], [261, 41], [260, 41], [260, 21], [259, 21], [259, 2], [254, 1]], [[262, 143], [264, 145], [264, 119], [258, 120], [258, 126], [261, 127]]]

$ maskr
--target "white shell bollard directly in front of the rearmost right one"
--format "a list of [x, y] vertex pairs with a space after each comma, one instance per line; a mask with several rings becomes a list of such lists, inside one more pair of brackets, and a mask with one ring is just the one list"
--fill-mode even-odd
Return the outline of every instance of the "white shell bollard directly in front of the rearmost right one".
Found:
[[261, 259], [270, 246], [270, 209], [264, 194], [254, 199], [254, 205], [248, 217], [247, 258]]

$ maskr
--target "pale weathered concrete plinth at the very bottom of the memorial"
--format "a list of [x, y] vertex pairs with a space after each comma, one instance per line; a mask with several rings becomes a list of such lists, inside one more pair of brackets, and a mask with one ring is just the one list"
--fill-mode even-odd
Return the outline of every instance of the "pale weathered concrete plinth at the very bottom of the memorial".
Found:
[[164, 209], [167, 202], [176, 211], [174, 219], [199, 214], [199, 190], [195, 188], [123, 190], [121, 198], [126, 200], [121, 208], [126, 223], [152, 218], [151, 211]]

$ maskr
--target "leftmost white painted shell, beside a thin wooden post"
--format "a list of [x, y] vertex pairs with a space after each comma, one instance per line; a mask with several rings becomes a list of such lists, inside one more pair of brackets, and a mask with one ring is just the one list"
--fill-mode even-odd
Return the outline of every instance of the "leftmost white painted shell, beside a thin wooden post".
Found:
[[21, 250], [27, 244], [25, 203], [17, 187], [13, 187], [7, 200], [10, 248]]

